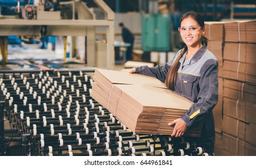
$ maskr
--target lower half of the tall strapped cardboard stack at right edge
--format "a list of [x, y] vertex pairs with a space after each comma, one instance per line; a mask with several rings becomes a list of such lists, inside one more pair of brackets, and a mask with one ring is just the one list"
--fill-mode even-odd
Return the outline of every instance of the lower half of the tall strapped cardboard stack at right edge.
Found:
[[224, 79], [222, 155], [256, 154], [255, 99], [255, 84]]

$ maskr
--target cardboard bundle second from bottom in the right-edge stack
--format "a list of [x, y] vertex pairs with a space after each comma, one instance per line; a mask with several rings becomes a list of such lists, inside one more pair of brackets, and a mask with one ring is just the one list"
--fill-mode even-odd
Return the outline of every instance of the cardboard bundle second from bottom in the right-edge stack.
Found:
[[246, 123], [231, 116], [223, 115], [223, 132], [239, 137], [239, 139], [252, 145], [256, 145], [255, 129], [256, 124]]

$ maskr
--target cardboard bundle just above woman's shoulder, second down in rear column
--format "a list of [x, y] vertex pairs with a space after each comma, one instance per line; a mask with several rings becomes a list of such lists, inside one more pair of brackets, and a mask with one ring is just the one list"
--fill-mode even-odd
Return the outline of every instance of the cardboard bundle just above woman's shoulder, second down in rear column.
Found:
[[212, 52], [219, 62], [219, 67], [223, 66], [223, 48], [224, 45], [222, 41], [209, 41], [207, 44], [207, 49]]

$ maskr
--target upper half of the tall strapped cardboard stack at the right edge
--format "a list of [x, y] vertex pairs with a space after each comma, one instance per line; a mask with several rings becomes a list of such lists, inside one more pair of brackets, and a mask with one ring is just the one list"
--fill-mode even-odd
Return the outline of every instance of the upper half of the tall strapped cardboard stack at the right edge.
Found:
[[256, 20], [225, 23], [224, 78], [256, 83], [255, 27]]

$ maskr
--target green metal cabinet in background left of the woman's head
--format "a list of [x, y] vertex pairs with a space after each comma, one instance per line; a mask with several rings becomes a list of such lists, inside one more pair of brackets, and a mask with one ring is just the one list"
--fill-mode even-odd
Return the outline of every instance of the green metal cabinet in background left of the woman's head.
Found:
[[142, 15], [142, 50], [169, 51], [171, 47], [168, 14]]

